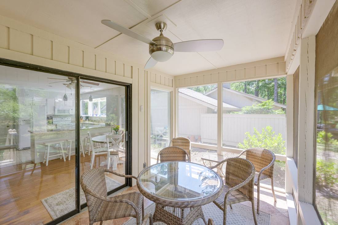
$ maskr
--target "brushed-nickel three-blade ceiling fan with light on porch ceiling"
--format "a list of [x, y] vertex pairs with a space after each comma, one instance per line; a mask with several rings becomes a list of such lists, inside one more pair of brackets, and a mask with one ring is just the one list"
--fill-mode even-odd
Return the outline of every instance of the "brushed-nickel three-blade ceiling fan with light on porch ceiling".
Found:
[[160, 31], [160, 36], [150, 40], [147, 37], [136, 33], [120, 24], [117, 24], [111, 20], [102, 20], [102, 24], [113, 28], [125, 35], [138, 39], [146, 44], [149, 44], [150, 58], [144, 66], [145, 69], [151, 68], [156, 65], [157, 62], [165, 62], [171, 58], [175, 52], [209, 52], [221, 50], [224, 41], [222, 39], [203, 39], [203, 40], [188, 40], [178, 43], [172, 43], [172, 41], [163, 35], [163, 31], [167, 29], [165, 22], [157, 22], [155, 27]]

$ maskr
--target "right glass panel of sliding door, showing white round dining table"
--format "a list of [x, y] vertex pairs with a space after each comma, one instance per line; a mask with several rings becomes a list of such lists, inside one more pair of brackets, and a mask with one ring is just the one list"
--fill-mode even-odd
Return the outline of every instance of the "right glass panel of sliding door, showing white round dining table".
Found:
[[[126, 99], [121, 96], [126, 87], [86, 79], [80, 82], [80, 175], [99, 167], [125, 174]], [[109, 141], [107, 135], [112, 135]], [[124, 177], [105, 176], [108, 192], [125, 185]], [[83, 199], [81, 204], [85, 202]]]

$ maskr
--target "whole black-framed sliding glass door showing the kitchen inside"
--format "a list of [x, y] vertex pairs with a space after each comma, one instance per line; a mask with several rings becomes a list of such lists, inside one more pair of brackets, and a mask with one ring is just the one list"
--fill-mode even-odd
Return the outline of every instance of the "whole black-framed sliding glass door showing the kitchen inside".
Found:
[[[130, 173], [130, 86], [0, 63], [0, 224], [57, 224], [86, 206], [85, 171]], [[106, 174], [108, 194], [127, 181]]]

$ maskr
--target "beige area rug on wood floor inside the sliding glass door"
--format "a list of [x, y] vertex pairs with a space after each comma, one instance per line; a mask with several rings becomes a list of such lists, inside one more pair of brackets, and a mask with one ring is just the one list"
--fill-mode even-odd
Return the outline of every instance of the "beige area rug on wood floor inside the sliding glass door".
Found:
[[[108, 176], [105, 176], [107, 190], [113, 190], [122, 184]], [[75, 187], [57, 193], [41, 200], [50, 216], [55, 220], [58, 217], [75, 209]], [[86, 197], [80, 187], [80, 203], [86, 203]]]

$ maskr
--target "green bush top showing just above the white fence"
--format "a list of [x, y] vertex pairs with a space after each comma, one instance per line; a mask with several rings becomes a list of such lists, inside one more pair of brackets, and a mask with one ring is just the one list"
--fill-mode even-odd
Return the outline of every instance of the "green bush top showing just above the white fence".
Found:
[[273, 101], [270, 99], [262, 103], [254, 103], [251, 106], [244, 106], [241, 111], [233, 112], [236, 114], [285, 114], [282, 109], [274, 110]]

